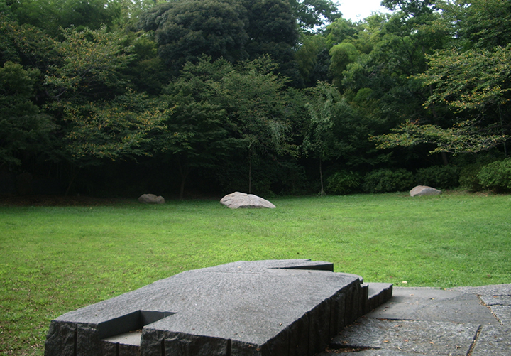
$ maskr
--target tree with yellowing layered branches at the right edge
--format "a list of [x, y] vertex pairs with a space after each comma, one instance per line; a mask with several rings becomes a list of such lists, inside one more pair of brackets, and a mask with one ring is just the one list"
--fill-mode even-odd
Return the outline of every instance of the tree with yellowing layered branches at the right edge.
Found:
[[[424, 107], [433, 113], [445, 107], [451, 123], [444, 119], [424, 125], [412, 119], [394, 134], [380, 136], [380, 146], [429, 143], [436, 146], [432, 152], [457, 154], [487, 151], [503, 144], [507, 155], [511, 44], [496, 45], [510, 38], [511, 31], [500, 26], [509, 18], [506, 6], [509, 4], [499, 0], [445, 6], [442, 14], [452, 24], [449, 31], [456, 38], [451, 40], [451, 48], [427, 55], [427, 70], [415, 77], [429, 89]], [[482, 28], [481, 24], [495, 26]], [[431, 27], [434, 30], [438, 24]]]

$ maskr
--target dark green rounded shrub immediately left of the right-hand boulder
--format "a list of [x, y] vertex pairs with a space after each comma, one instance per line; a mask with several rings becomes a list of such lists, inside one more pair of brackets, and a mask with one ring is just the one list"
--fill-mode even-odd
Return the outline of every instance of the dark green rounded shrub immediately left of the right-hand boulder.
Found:
[[406, 169], [378, 169], [366, 175], [363, 188], [369, 193], [400, 192], [410, 190], [413, 183], [413, 174]]

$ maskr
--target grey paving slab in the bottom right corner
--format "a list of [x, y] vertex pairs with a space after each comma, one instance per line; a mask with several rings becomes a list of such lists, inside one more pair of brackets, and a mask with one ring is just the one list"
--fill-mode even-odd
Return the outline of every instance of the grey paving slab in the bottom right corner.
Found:
[[511, 355], [511, 328], [485, 325], [481, 328], [472, 356]]

